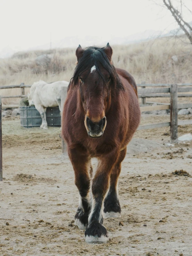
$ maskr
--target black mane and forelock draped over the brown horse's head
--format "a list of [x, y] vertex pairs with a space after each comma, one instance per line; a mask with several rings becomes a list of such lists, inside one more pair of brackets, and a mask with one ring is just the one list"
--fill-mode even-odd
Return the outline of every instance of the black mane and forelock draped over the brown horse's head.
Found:
[[124, 85], [122, 84], [115, 67], [110, 64], [109, 59], [104, 52], [104, 47], [87, 47], [84, 49], [82, 57], [79, 59], [77, 66], [75, 67], [68, 89], [75, 88], [75, 86], [79, 84], [79, 76], [86, 70], [89, 70], [90, 72], [93, 66], [96, 67], [103, 81], [105, 81], [105, 79], [99, 67], [103, 66], [103, 68], [109, 72], [110, 86], [112, 91], [125, 90]]

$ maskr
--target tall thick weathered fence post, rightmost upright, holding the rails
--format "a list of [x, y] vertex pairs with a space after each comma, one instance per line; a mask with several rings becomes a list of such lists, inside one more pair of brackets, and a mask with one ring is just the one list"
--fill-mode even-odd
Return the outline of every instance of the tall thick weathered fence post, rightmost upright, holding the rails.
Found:
[[170, 86], [170, 133], [171, 143], [178, 142], [177, 84]]

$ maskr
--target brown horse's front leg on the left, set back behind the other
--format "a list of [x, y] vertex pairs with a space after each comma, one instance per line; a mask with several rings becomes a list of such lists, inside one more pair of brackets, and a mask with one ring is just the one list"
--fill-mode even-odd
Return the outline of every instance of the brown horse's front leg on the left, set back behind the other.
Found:
[[90, 171], [91, 159], [88, 152], [77, 146], [76, 148], [69, 148], [68, 155], [71, 159], [73, 169], [75, 172], [75, 185], [79, 190], [79, 207], [75, 214], [75, 225], [80, 229], [86, 229], [88, 225], [89, 216], [89, 189], [90, 189]]

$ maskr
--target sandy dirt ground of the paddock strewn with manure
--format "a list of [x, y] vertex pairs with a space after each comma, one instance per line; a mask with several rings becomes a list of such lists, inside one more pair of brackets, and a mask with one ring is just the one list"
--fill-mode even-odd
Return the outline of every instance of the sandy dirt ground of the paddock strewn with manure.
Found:
[[[144, 115], [141, 124], [168, 119]], [[25, 129], [8, 117], [2, 129], [0, 255], [192, 255], [192, 142], [170, 148], [169, 127], [137, 131], [119, 179], [121, 217], [104, 220], [106, 244], [89, 245], [73, 225], [79, 197], [60, 128]], [[192, 125], [179, 126], [185, 133]]]

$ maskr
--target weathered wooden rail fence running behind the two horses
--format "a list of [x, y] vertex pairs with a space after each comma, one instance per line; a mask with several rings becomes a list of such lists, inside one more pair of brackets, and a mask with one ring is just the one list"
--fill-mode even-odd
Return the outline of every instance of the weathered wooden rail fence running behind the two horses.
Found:
[[[177, 109], [181, 108], [191, 108], [192, 104], [177, 104], [177, 97], [192, 97], [192, 94], [183, 93], [183, 92], [192, 92], [192, 83], [182, 83], [182, 84], [146, 84], [142, 82], [141, 84], [137, 84], [138, 86], [138, 98], [141, 98], [141, 112], [143, 111], [153, 111], [153, 110], [163, 110], [170, 109], [170, 122], [156, 123], [156, 124], [147, 124], [140, 125], [138, 130], [141, 129], [152, 129], [163, 126], [171, 127], [171, 141], [177, 142], [176, 136], [176, 128], [177, 125], [185, 125], [192, 124], [192, 120], [177, 120]], [[188, 86], [188, 87], [186, 87]], [[0, 89], [11, 89], [11, 88], [21, 88], [21, 95], [16, 96], [2, 96], [1, 98], [24, 98], [27, 97], [25, 95], [25, 88], [30, 88], [31, 85], [25, 85], [21, 83], [20, 85], [5, 85], [0, 86]], [[141, 87], [141, 89], [140, 89]], [[150, 87], [150, 88], [147, 88]], [[157, 88], [161, 87], [161, 88]], [[62, 101], [64, 102], [66, 93], [62, 94], [64, 96]], [[156, 102], [157, 106], [146, 106], [147, 104], [152, 104], [154, 102], [146, 102], [146, 98], [154, 98], [154, 97], [162, 97], [162, 98], [170, 98], [170, 104], [164, 104]], [[144, 106], [145, 105], [145, 106]], [[4, 105], [2, 108], [17, 108], [19, 105]], [[177, 124], [177, 125], [176, 125]]]

